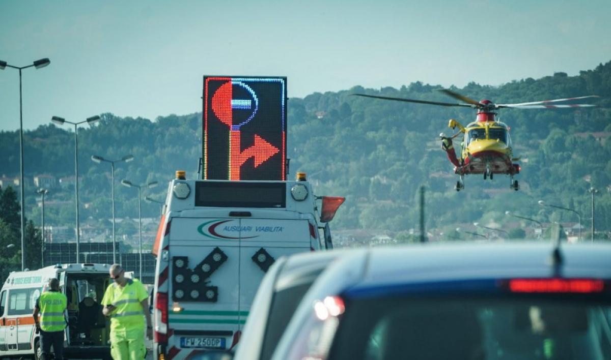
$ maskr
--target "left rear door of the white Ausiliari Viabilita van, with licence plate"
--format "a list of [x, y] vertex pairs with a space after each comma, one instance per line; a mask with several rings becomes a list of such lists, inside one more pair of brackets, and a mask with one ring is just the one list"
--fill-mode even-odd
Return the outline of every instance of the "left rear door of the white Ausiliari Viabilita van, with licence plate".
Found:
[[[239, 329], [240, 219], [174, 217], [169, 238], [168, 348], [229, 348]], [[183, 351], [184, 350], [184, 351]]]

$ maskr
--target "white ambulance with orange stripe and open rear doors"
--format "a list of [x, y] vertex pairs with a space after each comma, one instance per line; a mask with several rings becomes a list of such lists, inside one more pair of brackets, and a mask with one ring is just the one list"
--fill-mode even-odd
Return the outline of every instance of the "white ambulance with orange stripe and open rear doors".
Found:
[[0, 358], [40, 359], [32, 312], [49, 279], [57, 278], [68, 298], [65, 356], [110, 359], [109, 326], [100, 305], [110, 282], [109, 266], [58, 264], [10, 273], [0, 290]]

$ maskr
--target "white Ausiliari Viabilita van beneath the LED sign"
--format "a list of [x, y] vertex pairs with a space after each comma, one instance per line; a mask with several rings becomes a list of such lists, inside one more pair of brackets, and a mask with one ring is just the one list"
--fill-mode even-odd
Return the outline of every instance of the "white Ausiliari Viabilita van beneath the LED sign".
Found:
[[332, 248], [329, 226], [320, 224], [344, 201], [314, 196], [305, 173], [296, 181], [186, 180], [178, 173], [153, 247], [155, 359], [234, 347], [274, 260]]

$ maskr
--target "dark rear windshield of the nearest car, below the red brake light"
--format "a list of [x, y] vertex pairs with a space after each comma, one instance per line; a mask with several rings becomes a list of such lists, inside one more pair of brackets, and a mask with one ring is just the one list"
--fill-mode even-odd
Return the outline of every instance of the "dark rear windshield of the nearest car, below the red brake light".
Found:
[[574, 299], [357, 299], [329, 359], [611, 359], [610, 320]]

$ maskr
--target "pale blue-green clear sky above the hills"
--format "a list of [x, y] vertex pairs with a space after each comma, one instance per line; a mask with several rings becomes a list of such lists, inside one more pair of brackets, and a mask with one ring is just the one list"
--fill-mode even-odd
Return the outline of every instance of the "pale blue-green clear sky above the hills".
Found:
[[[414, 81], [500, 85], [611, 60], [611, 1], [0, 0], [0, 60], [24, 66], [24, 128], [202, 110], [202, 76], [288, 77], [288, 96]], [[525, 101], [536, 99], [524, 99]], [[0, 71], [0, 130], [19, 128]]]

